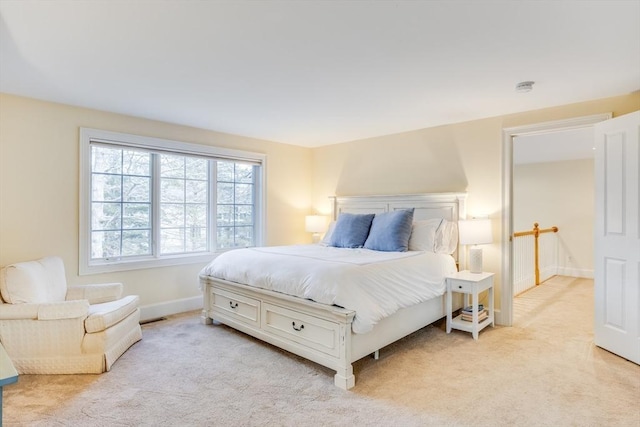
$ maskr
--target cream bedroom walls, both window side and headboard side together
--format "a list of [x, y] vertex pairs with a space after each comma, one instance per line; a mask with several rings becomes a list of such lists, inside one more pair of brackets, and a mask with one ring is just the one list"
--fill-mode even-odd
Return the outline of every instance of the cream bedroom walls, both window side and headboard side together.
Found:
[[640, 109], [640, 93], [308, 149], [0, 94], [0, 265], [58, 254], [71, 284], [122, 281], [143, 306], [199, 297], [202, 265], [79, 277], [79, 127], [267, 155], [268, 245], [309, 242], [304, 215], [328, 196], [466, 191], [467, 213], [488, 214], [484, 267], [502, 279], [502, 129]]

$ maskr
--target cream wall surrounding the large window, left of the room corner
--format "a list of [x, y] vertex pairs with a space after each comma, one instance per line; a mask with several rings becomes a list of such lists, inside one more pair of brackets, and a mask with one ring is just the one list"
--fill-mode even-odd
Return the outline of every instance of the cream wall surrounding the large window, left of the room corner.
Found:
[[78, 276], [80, 127], [264, 153], [266, 243], [310, 239], [307, 148], [0, 94], [0, 265], [55, 254], [64, 259], [70, 284], [121, 281], [126, 293], [160, 311], [174, 300], [197, 303], [202, 264]]

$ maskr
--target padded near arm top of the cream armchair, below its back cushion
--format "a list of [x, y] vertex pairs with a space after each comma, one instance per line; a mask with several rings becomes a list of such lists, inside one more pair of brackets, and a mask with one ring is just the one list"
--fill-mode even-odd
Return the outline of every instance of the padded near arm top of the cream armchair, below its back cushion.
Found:
[[56, 320], [86, 317], [89, 313], [87, 300], [61, 301], [44, 304], [2, 304], [1, 320]]

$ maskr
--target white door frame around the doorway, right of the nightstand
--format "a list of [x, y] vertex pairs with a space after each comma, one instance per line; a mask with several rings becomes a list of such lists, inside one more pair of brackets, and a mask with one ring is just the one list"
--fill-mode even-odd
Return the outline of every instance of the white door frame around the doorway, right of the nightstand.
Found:
[[504, 326], [513, 324], [513, 138], [593, 127], [612, 116], [611, 113], [602, 113], [502, 129], [502, 286], [496, 323]]

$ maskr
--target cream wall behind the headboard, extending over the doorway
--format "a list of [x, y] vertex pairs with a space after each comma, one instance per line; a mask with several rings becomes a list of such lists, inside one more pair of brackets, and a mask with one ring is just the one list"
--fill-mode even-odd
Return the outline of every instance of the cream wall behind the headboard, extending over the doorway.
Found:
[[[526, 95], [525, 95], [526, 96]], [[495, 243], [484, 247], [484, 269], [502, 271], [502, 129], [598, 113], [640, 109], [640, 92], [420, 129], [313, 150], [313, 205], [330, 210], [327, 196], [466, 191], [467, 214], [489, 215]]]

